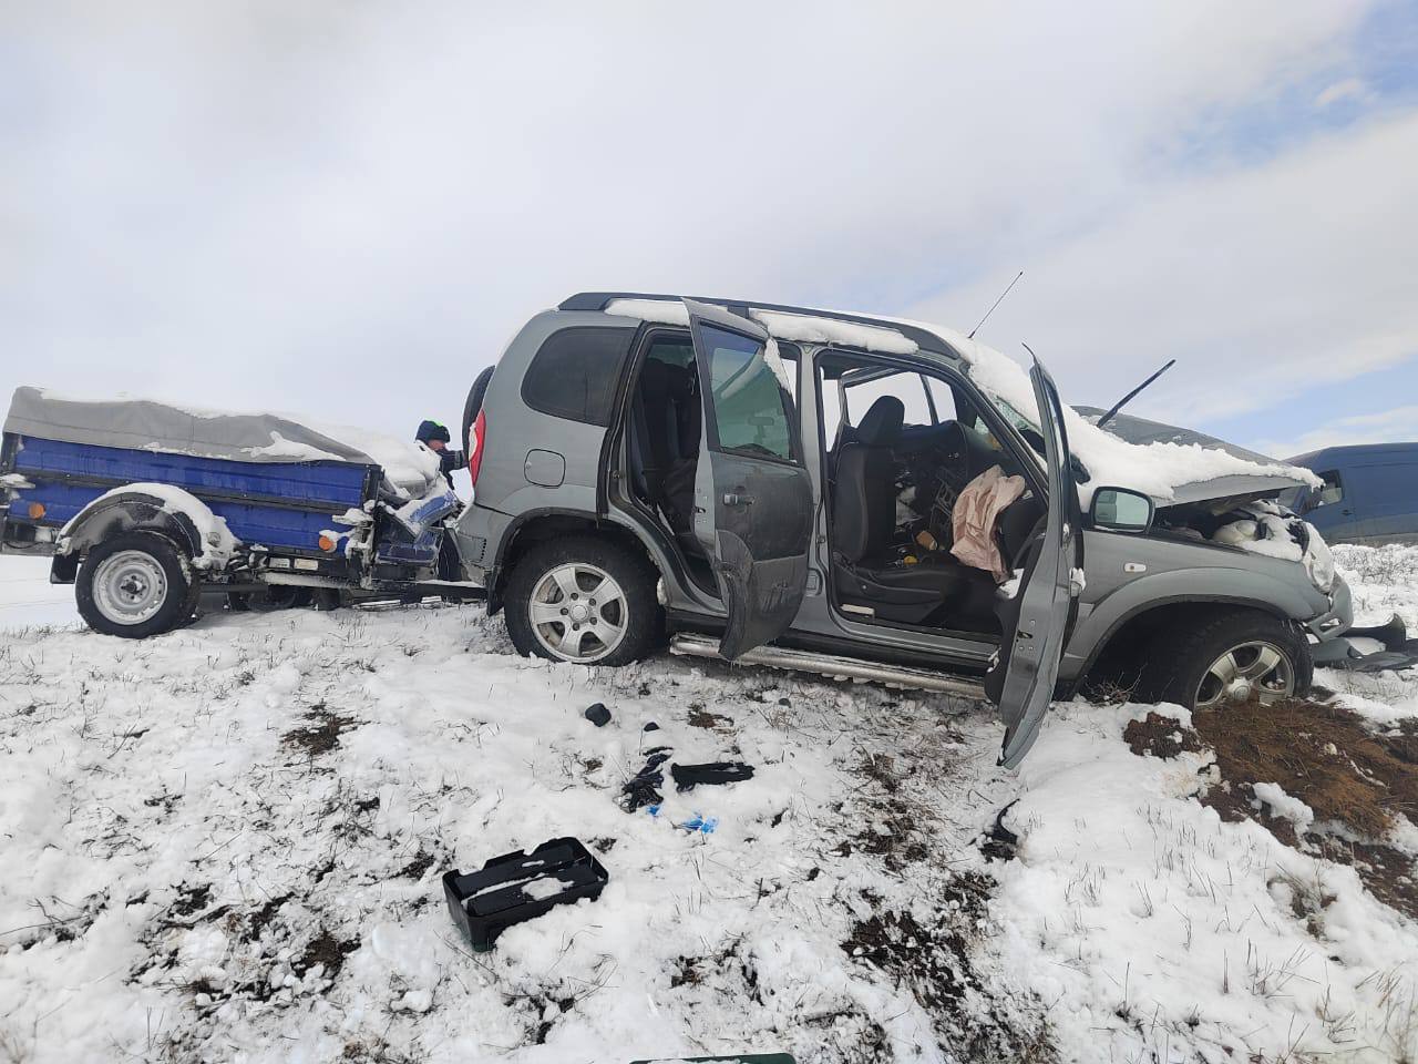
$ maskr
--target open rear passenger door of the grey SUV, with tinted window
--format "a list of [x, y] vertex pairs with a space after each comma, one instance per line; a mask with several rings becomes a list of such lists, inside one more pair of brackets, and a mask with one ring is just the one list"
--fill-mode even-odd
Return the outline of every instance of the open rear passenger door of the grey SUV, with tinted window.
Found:
[[807, 589], [813, 487], [788, 382], [756, 322], [685, 299], [703, 428], [695, 471], [695, 539], [729, 623], [719, 653], [736, 658], [781, 636]]

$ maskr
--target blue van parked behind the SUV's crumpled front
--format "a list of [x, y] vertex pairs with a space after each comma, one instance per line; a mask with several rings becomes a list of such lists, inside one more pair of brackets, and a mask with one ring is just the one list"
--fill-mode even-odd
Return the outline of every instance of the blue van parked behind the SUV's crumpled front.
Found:
[[1418, 443], [1324, 447], [1288, 460], [1313, 470], [1320, 488], [1280, 501], [1329, 543], [1418, 543]]

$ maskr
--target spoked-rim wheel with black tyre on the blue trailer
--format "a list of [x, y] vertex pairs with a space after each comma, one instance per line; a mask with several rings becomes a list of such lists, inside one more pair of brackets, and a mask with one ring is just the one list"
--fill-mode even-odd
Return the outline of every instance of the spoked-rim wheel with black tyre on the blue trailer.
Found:
[[152, 532], [125, 532], [88, 552], [74, 594], [94, 631], [140, 640], [186, 623], [201, 586], [173, 546]]

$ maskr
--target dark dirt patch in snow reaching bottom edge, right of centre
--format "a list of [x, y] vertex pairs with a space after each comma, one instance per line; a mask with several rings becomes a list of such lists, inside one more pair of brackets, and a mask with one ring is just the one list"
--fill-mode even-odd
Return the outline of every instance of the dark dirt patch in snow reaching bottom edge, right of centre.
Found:
[[954, 878], [946, 904], [922, 922], [909, 911], [873, 912], [852, 926], [842, 951], [909, 990], [936, 1023], [942, 1041], [961, 1060], [1052, 1061], [1046, 1027], [1015, 1030], [998, 1016], [971, 1006], [974, 992], [990, 999], [971, 959], [994, 881], [978, 872]]

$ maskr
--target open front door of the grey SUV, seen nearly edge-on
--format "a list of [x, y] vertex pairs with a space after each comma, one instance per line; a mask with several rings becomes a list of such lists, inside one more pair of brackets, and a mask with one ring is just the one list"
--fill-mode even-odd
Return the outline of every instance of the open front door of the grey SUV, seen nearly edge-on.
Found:
[[986, 692], [1004, 719], [1000, 763], [1015, 767], [1029, 752], [1054, 698], [1059, 658], [1076, 614], [1075, 569], [1082, 567], [1078, 487], [1073, 482], [1064, 404], [1054, 379], [1035, 359], [1029, 369], [1039, 404], [1048, 460], [1049, 512], [1044, 532], [1027, 549], [1024, 577], [1001, 603], [1000, 660], [986, 675]]

